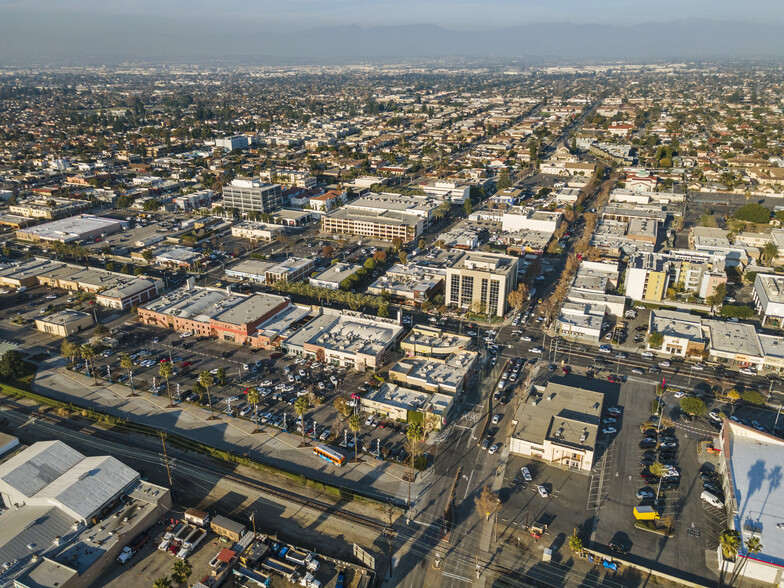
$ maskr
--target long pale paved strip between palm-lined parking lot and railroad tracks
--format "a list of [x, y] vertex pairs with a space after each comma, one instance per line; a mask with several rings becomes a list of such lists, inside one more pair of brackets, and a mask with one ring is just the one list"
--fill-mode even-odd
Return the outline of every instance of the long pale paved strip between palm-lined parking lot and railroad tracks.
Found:
[[[209, 420], [209, 410], [201, 407], [182, 403], [168, 408], [165, 395], [142, 392], [131, 397], [130, 389], [119, 384], [94, 386], [92, 378], [68, 371], [64, 366], [62, 358], [45, 361], [35, 375], [33, 391], [232, 451], [313, 480], [356, 489], [379, 500], [405, 503], [408, 497], [408, 483], [403, 480], [406, 468], [401, 465], [366, 458], [360, 463], [335, 468], [312, 454], [313, 444], [299, 447], [302, 441], [299, 434], [263, 426], [261, 432], [255, 433], [252, 422], [221, 413], [216, 413], [215, 420]], [[411, 485], [412, 496], [418, 496], [424, 486], [426, 483], [418, 477]]]

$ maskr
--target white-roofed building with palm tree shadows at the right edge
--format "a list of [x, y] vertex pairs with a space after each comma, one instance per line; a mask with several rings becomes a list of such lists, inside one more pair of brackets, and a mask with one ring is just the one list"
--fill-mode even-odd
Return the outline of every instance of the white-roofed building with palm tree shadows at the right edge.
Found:
[[[784, 582], [784, 441], [724, 419], [718, 447], [728, 526], [741, 538], [734, 561], [722, 562], [717, 549], [718, 566], [731, 576], [742, 565], [741, 584], [779, 586]], [[752, 537], [759, 541], [758, 553], [748, 552]]]

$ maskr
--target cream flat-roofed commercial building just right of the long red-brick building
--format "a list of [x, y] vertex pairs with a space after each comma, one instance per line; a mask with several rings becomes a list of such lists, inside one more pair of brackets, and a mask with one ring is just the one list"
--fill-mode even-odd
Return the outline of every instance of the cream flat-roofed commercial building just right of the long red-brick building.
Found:
[[364, 370], [380, 367], [404, 329], [392, 319], [322, 308], [321, 314], [292, 334], [282, 348], [292, 355]]

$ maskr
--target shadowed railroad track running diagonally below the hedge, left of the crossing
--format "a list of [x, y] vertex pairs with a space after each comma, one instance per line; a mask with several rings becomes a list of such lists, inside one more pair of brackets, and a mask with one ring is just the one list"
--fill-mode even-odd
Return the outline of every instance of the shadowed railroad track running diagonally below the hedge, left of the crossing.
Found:
[[[81, 433], [83, 435], [103, 437], [106, 438], [108, 441], [120, 442], [125, 444], [127, 444], [128, 442], [126, 438], [113, 434], [111, 431], [106, 431], [104, 429], [100, 429], [92, 425], [81, 426], [77, 423], [74, 423], [67, 417], [61, 417], [52, 412], [42, 412], [41, 410], [35, 407], [25, 406], [7, 397], [0, 397], [0, 402], [12, 407], [14, 410], [29, 414], [30, 416], [35, 417], [36, 419], [39, 419], [51, 425], [65, 427], [74, 430], [78, 433]], [[156, 455], [158, 455], [157, 451], [152, 447], [147, 447], [145, 449], [149, 451], [155, 451]], [[388, 525], [384, 523], [341, 509], [332, 504], [321, 502], [319, 500], [314, 500], [311, 498], [305, 498], [299, 494], [295, 494], [287, 490], [276, 488], [275, 486], [266, 484], [264, 482], [260, 482], [258, 480], [254, 480], [253, 478], [242, 476], [240, 474], [235, 474], [232, 472], [227, 472], [225, 469], [220, 467], [209, 466], [209, 465], [205, 465], [204, 463], [197, 463], [195, 461], [191, 461], [183, 457], [178, 457], [177, 460], [181, 463], [187, 464], [190, 468], [201, 470], [219, 476], [223, 480], [237, 484], [239, 486], [244, 486], [245, 488], [251, 489], [259, 494], [264, 494], [284, 502], [289, 502], [292, 504], [296, 504], [297, 506], [308, 508], [310, 510], [322, 512], [324, 514], [336, 517], [348, 523], [374, 529], [379, 533], [388, 533], [388, 534], [391, 533], [393, 535], [396, 534], [394, 531], [392, 531], [392, 529], [388, 527]]]

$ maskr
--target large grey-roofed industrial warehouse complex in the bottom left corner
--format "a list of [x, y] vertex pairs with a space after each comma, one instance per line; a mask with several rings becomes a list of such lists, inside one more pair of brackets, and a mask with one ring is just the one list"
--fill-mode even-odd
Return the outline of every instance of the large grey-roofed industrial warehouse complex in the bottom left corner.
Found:
[[171, 507], [169, 490], [109, 456], [40, 441], [0, 464], [0, 560], [17, 588], [86, 588]]

